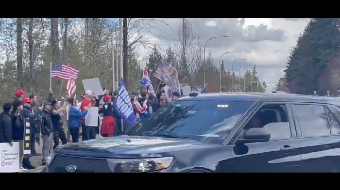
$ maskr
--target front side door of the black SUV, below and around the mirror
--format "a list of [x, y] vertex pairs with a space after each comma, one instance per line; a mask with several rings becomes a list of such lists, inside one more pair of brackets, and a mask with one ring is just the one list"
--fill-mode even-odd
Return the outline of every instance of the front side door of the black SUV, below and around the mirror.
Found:
[[[271, 133], [272, 139], [268, 142], [255, 142], [235, 144], [242, 131], [250, 123], [253, 117], [261, 110], [268, 108], [282, 108], [286, 117], [285, 122], [273, 122], [264, 126]], [[282, 111], [280, 111], [282, 112]], [[268, 118], [267, 118], [268, 119]], [[219, 163], [226, 172], [297, 172], [300, 168], [301, 155], [295, 147], [299, 144], [296, 138], [296, 128], [292, 120], [291, 112], [285, 103], [262, 103], [254, 113], [241, 124], [239, 133], [231, 141], [232, 158]]]

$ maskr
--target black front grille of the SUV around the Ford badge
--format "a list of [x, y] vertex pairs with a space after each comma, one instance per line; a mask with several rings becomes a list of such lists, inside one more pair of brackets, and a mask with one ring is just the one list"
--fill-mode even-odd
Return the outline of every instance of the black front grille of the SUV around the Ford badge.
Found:
[[77, 169], [72, 173], [107, 173], [111, 172], [106, 159], [71, 157], [55, 155], [48, 171], [53, 173], [69, 173], [68, 166], [75, 166]]

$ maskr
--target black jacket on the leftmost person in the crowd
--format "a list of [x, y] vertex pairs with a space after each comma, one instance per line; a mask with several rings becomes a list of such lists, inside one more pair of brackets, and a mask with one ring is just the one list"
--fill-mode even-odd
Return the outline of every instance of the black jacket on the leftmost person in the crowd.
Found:
[[0, 114], [0, 143], [12, 142], [12, 118], [9, 113]]

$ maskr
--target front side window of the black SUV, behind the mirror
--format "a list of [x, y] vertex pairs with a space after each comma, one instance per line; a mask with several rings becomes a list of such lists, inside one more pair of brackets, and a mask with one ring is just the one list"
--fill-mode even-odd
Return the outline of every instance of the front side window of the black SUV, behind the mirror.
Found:
[[[250, 118], [243, 128], [239, 138], [243, 138], [243, 133], [250, 128], [263, 127], [271, 134], [271, 140], [281, 140], [291, 138], [289, 119], [287, 116], [286, 105], [269, 104], [263, 105]], [[274, 125], [269, 125], [274, 124]]]

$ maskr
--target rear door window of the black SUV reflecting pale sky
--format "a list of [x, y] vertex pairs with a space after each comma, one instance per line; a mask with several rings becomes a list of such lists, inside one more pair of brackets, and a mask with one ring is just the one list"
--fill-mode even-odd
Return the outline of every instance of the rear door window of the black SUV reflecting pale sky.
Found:
[[295, 119], [300, 125], [303, 137], [330, 135], [325, 109], [321, 105], [291, 106]]

